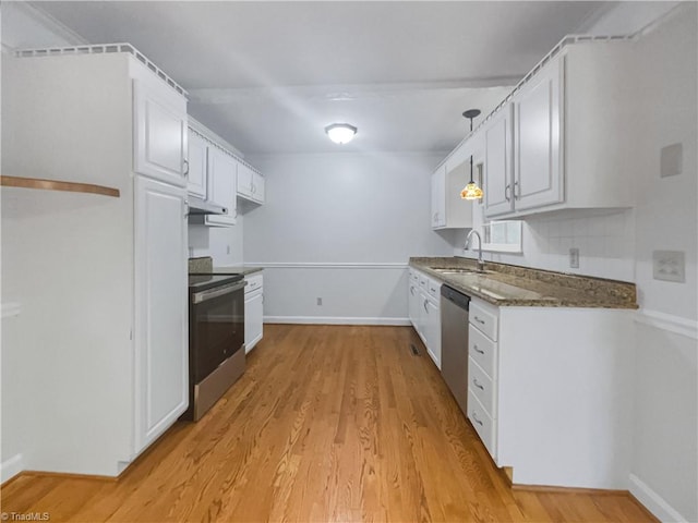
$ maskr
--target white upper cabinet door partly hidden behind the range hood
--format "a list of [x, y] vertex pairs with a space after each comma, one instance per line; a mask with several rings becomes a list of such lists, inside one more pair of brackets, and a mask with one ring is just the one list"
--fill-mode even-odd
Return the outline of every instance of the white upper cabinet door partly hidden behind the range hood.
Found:
[[238, 161], [217, 147], [208, 148], [208, 199], [222, 205], [225, 215], [207, 215], [204, 222], [207, 226], [234, 226], [237, 211], [237, 175]]

